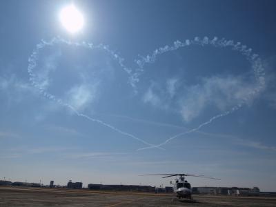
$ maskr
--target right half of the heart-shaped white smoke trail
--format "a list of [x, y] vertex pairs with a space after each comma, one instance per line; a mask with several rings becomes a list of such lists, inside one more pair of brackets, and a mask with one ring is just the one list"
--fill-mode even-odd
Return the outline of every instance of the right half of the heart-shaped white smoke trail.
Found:
[[217, 48], [230, 48], [230, 49], [236, 50], [240, 54], [244, 55], [244, 57], [246, 57], [246, 59], [248, 61], [250, 61], [250, 63], [251, 63], [252, 70], [255, 75], [255, 81], [256, 81], [255, 87], [252, 88], [252, 90], [250, 90], [250, 92], [248, 92], [246, 97], [243, 97], [243, 99], [240, 101], [240, 103], [237, 104], [237, 106], [234, 106], [230, 110], [223, 112], [219, 115], [215, 115], [214, 117], [211, 117], [208, 121], [200, 124], [196, 128], [193, 128], [186, 132], [181, 132], [177, 135], [173, 135], [172, 137], [169, 137], [168, 139], [166, 139], [166, 141], [162, 142], [161, 144], [158, 144], [156, 146], [148, 146], [145, 148], [139, 148], [138, 150], [146, 150], [146, 149], [150, 149], [150, 148], [161, 147], [161, 146], [164, 146], [165, 144], [167, 144], [169, 141], [172, 141], [172, 139], [175, 139], [175, 138], [183, 136], [183, 135], [187, 135], [191, 132], [195, 132], [195, 131], [199, 130], [200, 128], [210, 124], [215, 119], [225, 117], [225, 116], [229, 115], [230, 113], [235, 112], [236, 110], [238, 110], [239, 108], [244, 106], [244, 104], [246, 104], [250, 99], [253, 99], [256, 95], [258, 95], [259, 92], [261, 92], [262, 89], [264, 88], [264, 86], [265, 86], [264, 67], [262, 66], [262, 59], [259, 58], [259, 55], [254, 54], [253, 50], [251, 48], [247, 48], [247, 46], [242, 45], [242, 43], [240, 43], [240, 42], [234, 43], [233, 40], [218, 39], [217, 37], [214, 37], [214, 39], [212, 39], [212, 40], [208, 39], [208, 37], [204, 37], [204, 39], [199, 39], [199, 37], [195, 37], [194, 40], [186, 39], [186, 41], [184, 43], [181, 41], [175, 41], [173, 46], [164, 46], [163, 48], [158, 48], [157, 50], [155, 50], [152, 53], [152, 55], [147, 55], [146, 57], [142, 57], [141, 59], [136, 61], [139, 68], [134, 73], [134, 75], [132, 75], [132, 79], [138, 82], [139, 76], [141, 74], [143, 74], [143, 72], [144, 72], [145, 64], [146, 63], [155, 63], [155, 61], [157, 60], [159, 55], [162, 55], [166, 52], [170, 52], [173, 50], [177, 50], [179, 48], [184, 48], [184, 47], [193, 46], [193, 45], [197, 45], [197, 46], [210, 45], [210, 46], [214, 46]]

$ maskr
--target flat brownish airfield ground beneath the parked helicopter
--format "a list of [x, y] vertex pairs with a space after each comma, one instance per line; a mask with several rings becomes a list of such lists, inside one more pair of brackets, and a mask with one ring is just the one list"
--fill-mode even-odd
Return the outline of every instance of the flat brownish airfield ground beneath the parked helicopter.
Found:
[[194, 195], [194, 201], [155, 193], [0, 186], [0, 206], [276, 206], [275, 197]]

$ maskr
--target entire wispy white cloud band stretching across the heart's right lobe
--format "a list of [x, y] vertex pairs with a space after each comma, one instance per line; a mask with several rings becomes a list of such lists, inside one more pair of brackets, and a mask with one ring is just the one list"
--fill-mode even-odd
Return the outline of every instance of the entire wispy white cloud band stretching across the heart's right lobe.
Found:
[[250, 104], [255, 98], [250, 94], [255, 86], [245, 79], [230, 75], [202, 77], [194, 85], [185, 85], [178, 79], [167, 79], [164, 83], [152, 81], [142, 100], [153, 107], [177, 112], [189, 122], [208, 107], [224, 112], [239, 104]]

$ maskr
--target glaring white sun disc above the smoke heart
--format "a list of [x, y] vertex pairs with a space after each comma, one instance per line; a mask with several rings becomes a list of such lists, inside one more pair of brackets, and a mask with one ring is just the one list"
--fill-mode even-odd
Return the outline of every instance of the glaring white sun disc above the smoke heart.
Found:
[[59, 19], [63, 27], [65, 27], [70, 33], [79, 32], [84, 23], [83, 15], [73, 4], [66, 6], [61, 10]]

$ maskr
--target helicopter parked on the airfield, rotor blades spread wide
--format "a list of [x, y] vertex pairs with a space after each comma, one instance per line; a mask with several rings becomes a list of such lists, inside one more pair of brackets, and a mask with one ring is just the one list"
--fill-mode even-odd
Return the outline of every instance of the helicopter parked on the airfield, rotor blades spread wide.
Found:
[[[192, 176], [192, 177], [204, 177], [208, 179], [217, 179], [215, 177], [206, 177], [204, 175], [193, 175], [193, 174], [148, 174], [148, 175], [163, 175], [166, 177], [175, 177], [175, 183], [173, 184], [172, 181], [170, 181], [170, 184], [173, 185], [173, 191], [176, 194], [178, 199], [186, 198], [186, 199], [192, 199], [192, 187], [190, 186], [190, 183], [185, 179], [186, 176]], [[146, 176], [146, 175], [141, 175]], [[220, 179], [217, 179], [220, 180]]]

